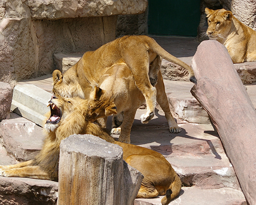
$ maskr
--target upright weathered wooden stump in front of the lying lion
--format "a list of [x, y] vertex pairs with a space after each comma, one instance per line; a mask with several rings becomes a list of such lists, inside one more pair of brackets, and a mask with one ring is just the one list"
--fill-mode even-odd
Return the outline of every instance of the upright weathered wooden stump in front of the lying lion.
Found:
[[122, 148], [93, 135], [60, 145], [58, 205], [134, 204], [143, 176], [122, 160]]

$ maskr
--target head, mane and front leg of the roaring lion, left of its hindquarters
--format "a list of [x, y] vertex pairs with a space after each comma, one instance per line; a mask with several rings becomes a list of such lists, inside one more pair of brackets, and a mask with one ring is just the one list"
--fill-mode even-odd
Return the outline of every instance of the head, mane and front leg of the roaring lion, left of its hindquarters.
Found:
[[[51, 102], [62, 111], [62, 117], [57, 124], [46, 123], [44, 127], [46, 137], [40, 153], [33, 160], [27, 162], [0, 166], [1, 176], [57, 181], [61, 140], [73, 134], [92, 134], [106, 141], [114, 142], [114, 139], [101, 130], [99, 125], [85, 120], [88, 113], [87, 100], [78, 97], [64, 99], [59, 96], [51, 99]], [[50, 114], [48, 116], [50, 117]]]

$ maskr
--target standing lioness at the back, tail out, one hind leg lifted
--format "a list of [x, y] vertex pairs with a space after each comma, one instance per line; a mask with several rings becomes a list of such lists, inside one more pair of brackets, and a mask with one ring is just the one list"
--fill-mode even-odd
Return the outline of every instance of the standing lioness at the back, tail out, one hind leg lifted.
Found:
[[90, 85], [99, 85], [102, 75], [112, 65], [125, 63], [132, 73], [137, 88], [146, 100], [147, 111], [141, 116], [141, 121], [147, 123], [154, 116], [156, 106], [154, 85], [160, 70], [160, 65], [153, 66], [151, 63], [156, 58], [160, 58], [159, 56], [183, 66], [189, 71], [190, 80], [196, 82], [194, 72], [189, 65], [166, 52], [154, 39], [144, 35], [134, 35], [118, 38], [102, 45], [94, 52], [86, 52], [63, 75], [55, 70], [53, 72], [53, 93], [88, 99], [88, 93], [91, 91]]

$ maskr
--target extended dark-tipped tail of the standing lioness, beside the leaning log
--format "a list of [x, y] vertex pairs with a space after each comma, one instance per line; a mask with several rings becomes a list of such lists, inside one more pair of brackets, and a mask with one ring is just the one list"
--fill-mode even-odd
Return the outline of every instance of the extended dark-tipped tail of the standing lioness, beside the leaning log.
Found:
[[180, 60], [180, 59], [174, 57], [173, 55], [171, 55], [170, 53], [166, 52], [166, 50], [163, 49], [158, 43], [156, 43], [156, 41], [154, 39], [149, 37], [147, 39], [147, 43], [149, 44], [149, 48], [151, 50], [153, 50], [155, 53], [157, 53], [158, 55], [160, 55], [160, 57], [188, 70], [189, 80], [196, 84], [196, 78], [195, 78], [194, 71], [188, 64], [184, 63], [182, 60]]

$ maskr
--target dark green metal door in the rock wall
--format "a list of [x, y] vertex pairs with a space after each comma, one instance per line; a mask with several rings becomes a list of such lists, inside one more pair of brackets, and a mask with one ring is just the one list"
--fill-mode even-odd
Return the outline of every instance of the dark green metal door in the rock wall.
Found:
[[149, 34], [196, 36], [200, 0], [149, 0]]

